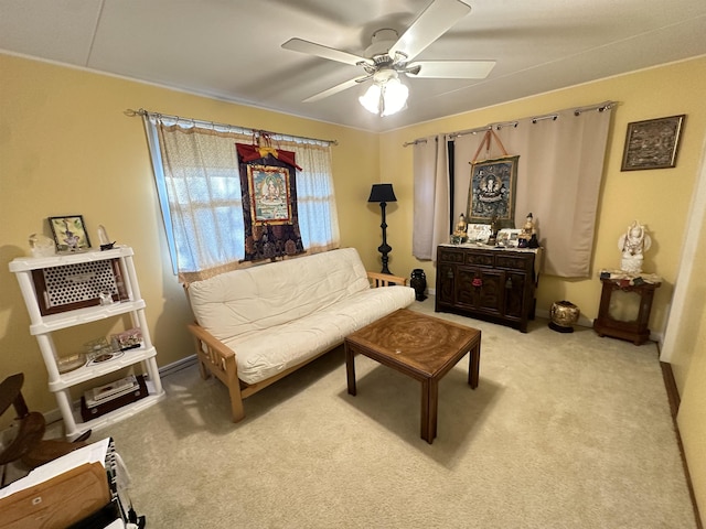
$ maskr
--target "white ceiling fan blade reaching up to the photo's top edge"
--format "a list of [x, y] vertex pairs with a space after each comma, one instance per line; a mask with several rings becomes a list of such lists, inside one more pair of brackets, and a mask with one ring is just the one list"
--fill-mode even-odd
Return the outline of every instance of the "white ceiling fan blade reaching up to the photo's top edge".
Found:
[[434, 0], [393, 44], [389, 56], [402, 52], [411, 61], [470, 11], [471, 7], [460, 0]]

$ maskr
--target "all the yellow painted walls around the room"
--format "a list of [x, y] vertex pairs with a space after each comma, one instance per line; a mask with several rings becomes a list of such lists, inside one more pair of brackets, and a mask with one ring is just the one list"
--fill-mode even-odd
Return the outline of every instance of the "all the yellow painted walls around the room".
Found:
[[[99, 224], [120, 244], [136, 251], [136, 267], [147, 301], [148, 325], [161, 366], [192, 354], [184, 324], [190, 311], [171, 273], [147, 143], [139, 118], [124, 115], [143, 107], [164, 114], [229, 122], [290, 134], [336, 139], [333, 149], [334, 185], [343, 246], [356, 247], [367, 268], [379, 268], [379, 207], [365, 201], [374, 182], [392, 182], [398, 202], [388, 206], [389, 268], [409, 276], [424, 268], [430, 285], [435, 268], [411, 257], [411, 149], [405, 141], [607, 99], [620, 101], [609, 137], [606, 175], [600, 196], [593, 276], [616, 267], [616, 241], [633, 220], [646, 223], [654, 239], [645, 270], [661, 274], [651, 320], [653, 331], [664, 327], [676, 279], [682, 234], [706, 131], [703, 93], [706, 57], [633, 73], [558, 90], [492, 108], [373, 134], [261, 109], [227, 104], [120, 78], [97, 75], [0, 54], [0, 376], [23, 371], [30, 408], [56, 408], [46, 389], [46, 374], [36, 342], [28, 332], [29, 317], [7, 263], [28, 252], [28, 236], [50, 235], [46, 217], [82, 214], [89, 236], [97, 240]], [[628, 122], [686, 114], [677, 166], [668, 170], [620, 172]], [[569, 299], [592, 319], [600, 287], [593, 277], [565, 281], [543, 277], [538, 310]], [[696, 309], [696, 307], [695, 307]], [[699, 307], [703, 311], [703, 306]], [[702, 511], [706, 510], [703, 402], [706, 397], [702, 320], [693, 350], [683, 353], [681, 374], [683, 411], [680, 425], [685, 440]], [[107, 334], [109, 327], [93, 328]], [[61, 336], [61, 346], [78, 346], [87, 336]], [[692, 358], [693, 357], [693, 358]], [[688, 360], [688, 361], [687, 361]], [[3, 418], [4, 419], [4, 418]]]

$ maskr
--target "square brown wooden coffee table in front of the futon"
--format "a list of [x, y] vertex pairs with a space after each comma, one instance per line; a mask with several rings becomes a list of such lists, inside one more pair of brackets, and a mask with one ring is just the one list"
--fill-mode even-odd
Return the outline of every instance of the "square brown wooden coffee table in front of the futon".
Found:
[[470, 353], [468, 384], [478, 387], [481, 332], [407, 309], [393, 312], [344, 341], [349, 393], [355, 395], [355, 353], [421, 382], [421, 439], [437, 436], [439, 380]]

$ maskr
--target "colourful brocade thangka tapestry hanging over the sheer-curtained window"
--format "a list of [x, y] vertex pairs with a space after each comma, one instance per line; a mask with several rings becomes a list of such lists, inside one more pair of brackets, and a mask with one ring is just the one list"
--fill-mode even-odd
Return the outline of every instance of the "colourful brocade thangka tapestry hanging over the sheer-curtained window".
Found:
[[303, 253], [297, 212], [295, 153], [235, 144], [238, 154], [246, 261]]

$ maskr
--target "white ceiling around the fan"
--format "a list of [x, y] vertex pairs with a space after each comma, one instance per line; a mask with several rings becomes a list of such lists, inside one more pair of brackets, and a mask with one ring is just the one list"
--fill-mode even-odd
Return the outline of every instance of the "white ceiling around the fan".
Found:
[[495, 68], [407, 78], [408, 108], [385, 118], [359, 105], [367, 84], [301, 102], [363, 72], [280, 46], [364, 55], [375, 30], [402, 34], [430, 0], [0, 0], [0, 51], [372, 131], [706, 54], [705, 0], [464, 1], [470, 14], [416, 58]]

